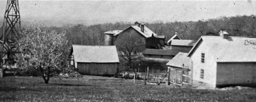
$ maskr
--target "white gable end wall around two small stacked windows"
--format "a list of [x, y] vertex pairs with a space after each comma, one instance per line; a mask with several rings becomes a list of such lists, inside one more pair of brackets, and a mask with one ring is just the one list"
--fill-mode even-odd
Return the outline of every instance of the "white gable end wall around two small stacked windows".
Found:
[[[201, 53], [205, 54], [204, 63], [201, 63]], [[193, 65], [191, 71], [194, 86], [202, 83], [203, 86], [216, 87], [216, 62], [203, 41], [199, 43], [198, 48], [195, 49], [190, 58]], [[201, 69], [204, 70], [203, 79], [200, 78]]]

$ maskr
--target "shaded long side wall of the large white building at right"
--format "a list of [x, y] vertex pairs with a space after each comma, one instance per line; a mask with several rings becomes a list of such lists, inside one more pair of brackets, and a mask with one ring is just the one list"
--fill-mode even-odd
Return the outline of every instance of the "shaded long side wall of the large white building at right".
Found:
[[256, 85], [256, 63], [217, 63], [217, 86]]

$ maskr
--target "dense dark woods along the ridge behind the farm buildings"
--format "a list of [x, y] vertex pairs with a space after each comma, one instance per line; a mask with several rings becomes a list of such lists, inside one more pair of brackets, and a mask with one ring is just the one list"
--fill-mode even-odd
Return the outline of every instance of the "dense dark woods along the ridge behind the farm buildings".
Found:
[[[135, 22], [135, 21], [134, 21]], [[175, 32], [182, 39], [197, 40], [201, 35], [218, 35], [221, 29], [227, 30], [230, 36], [256, 36], [255, 15], [219, 17], [209, 20], [198, 20], [188, 22], [141, 22], [145, 23], [149, 29], [158, 35], [165, 35], [166, 40], [170, 39]], [[104, 32], [113, 30], [124, 30], [134, 25], [133, 22], [115, 22], [85, 26], [77, 24], [75, 26], [66, 25], [63, 27], [49, 27], [49, 29], [61, 32], [66, 31], [69, 44], [82, 45], [103, 45]]]

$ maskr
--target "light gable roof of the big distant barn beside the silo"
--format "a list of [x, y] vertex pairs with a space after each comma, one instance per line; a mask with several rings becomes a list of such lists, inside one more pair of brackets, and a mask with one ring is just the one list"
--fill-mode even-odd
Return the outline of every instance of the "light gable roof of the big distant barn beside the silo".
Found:
[[[126, 28], [125, 30], [123, 30], [122, 32], [126, 31], [126, 30], [129, 29], [129, 28], [132, 28], [132, 29], [136, 30], [136, 31], [139, 32], [141, 35], [143, 35], [145, 38], [151, 37], [152, 34], [153, 34], [154, 36], [157, 36], [156, 33], [154, 33], [153, 31], [151, 31], [150, 29], [148, 29], [146, 26], [144, 26], [144, 32], [142, 32], [142, 31], [141, 31], [141, 28], [138, 27], [138, 26], [130, 26], [130, 27]], [[117, 35], [117, 34], [115, 34], [115, 35]]]

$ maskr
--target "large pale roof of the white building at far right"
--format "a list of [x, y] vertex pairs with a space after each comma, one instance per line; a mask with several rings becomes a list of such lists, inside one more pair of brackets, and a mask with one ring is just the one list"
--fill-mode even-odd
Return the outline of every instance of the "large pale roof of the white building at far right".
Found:
[[[216, 62], [256, 62], [256, 38], [228, 36], [201, 36], [187, 56], [191, 56], [203, 41]], [[250, 41], [255, 41], [251, 43]]]

